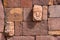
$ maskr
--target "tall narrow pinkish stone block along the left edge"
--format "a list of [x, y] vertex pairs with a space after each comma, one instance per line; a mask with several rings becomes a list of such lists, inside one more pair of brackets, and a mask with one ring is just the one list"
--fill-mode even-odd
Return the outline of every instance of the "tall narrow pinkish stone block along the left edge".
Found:
[[3, 5], [0, 0], [0, 32], [4, 31], [4, 10], [3, 10]]

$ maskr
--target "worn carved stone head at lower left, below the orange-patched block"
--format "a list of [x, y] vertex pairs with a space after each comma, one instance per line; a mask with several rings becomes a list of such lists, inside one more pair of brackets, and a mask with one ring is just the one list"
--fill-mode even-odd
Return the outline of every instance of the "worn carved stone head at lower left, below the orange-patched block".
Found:
[[7, 22], [5, 27], [5, 33], [7, 36], [13, 36], [14, 35], [14, 23], [13, 22]]

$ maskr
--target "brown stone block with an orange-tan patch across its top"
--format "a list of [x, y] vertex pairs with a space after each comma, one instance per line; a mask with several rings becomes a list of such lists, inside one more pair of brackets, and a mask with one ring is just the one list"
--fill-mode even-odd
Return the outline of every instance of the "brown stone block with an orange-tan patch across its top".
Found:
[[23, 21], [22, 8], [5, 8], [6, 21]]

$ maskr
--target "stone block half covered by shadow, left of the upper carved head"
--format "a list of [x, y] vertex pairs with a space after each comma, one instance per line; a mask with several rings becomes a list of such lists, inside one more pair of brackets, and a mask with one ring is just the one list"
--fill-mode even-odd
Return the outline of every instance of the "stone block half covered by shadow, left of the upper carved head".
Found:
[[32, 20], [33, 20], [32, 8], [24, 8], [24, 21]]

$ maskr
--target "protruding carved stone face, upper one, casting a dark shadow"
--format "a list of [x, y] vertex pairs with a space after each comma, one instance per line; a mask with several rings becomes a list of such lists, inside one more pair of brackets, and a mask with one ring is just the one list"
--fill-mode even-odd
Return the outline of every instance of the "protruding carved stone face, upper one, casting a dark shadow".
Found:
[[36, 21], [42, 20], [42, 6], [34, 5], [34, 7], [33, 7], [33, 20], [36, 20]]

